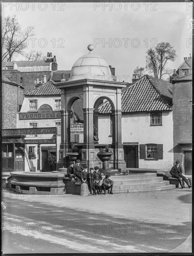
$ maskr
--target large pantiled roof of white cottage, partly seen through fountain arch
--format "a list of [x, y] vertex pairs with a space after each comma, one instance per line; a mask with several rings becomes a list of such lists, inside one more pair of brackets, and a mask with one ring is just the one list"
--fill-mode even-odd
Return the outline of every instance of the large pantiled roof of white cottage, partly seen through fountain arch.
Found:
[[[122, 91], [122, 112], [150, 112], [172, 110], [172, 84], [144, 75]], [[111, 113], [109, 101], [99, 107], [100, 114]]]

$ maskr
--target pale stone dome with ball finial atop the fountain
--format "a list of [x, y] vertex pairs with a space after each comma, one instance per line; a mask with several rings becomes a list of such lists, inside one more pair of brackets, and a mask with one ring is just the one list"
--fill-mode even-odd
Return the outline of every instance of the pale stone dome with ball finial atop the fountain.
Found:
[[[90, 52], [80, 57], [71, 68], [70, 81], [76, 81], [80, 79], [97, 79], [112, 81], [112, 75], [110, 67], [104, 59], [96, 54], [92, 53], [93, 46], [89, 45]], [[98, 79], [99, 80], [99, 79]]]

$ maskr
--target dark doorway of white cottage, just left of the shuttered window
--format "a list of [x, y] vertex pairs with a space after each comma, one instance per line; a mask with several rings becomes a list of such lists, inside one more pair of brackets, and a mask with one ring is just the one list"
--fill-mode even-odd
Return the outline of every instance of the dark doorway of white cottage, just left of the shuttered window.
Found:
[[124, 160], [127, 168], [138, 168], [138, 145], [124, 145]]

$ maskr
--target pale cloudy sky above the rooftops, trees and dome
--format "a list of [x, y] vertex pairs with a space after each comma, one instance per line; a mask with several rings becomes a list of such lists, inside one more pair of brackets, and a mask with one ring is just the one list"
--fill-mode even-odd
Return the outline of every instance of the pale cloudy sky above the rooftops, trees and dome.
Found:
[[130, 82], [136, 66], [145, 67], [146, 52], [159, 42], [169, 42], [176, 50], [177, 58], [168, 62], [169, 69], [177, 69], [192, 54], [190, 2], [5, 2], [2, 18], [7, 15], [16, 15], [22, 28], [34, 26], [35, 35], [26, 51], [51, 52], [58, 70], [71, 70], [88, 53], [89, 44], [125, 82]]

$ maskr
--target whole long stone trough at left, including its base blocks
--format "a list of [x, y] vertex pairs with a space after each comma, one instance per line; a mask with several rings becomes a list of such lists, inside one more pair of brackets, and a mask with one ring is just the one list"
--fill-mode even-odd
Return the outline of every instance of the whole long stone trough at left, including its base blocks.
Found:
[[11, 190], [23, 194], [65, 194], [63, 173], [11, 172]]

